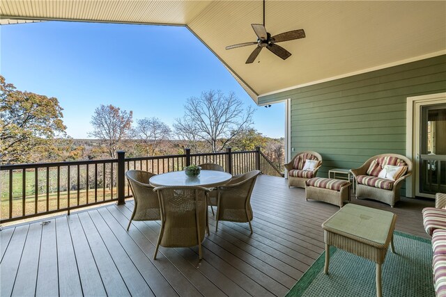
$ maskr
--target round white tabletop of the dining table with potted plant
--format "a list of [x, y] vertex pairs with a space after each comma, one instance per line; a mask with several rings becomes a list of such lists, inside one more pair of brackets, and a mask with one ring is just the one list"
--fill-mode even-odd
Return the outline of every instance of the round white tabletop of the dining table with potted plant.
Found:
[[219, 186], [232, 178], [227, 172], [201, 170], [198, 177], [188, 177], [184, 171], [174, 171], [155, 175], [149, 179], [152, 186]]

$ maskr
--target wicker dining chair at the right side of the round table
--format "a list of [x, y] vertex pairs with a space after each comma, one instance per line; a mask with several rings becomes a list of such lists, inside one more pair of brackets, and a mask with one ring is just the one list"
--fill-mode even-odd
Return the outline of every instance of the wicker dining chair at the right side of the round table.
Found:
[[252, 233], [251, 220], [251, 194], [259, 170], [247, 172], [233, 177], [231, 182], [217, 188], [217, 216], [215, 216], [215, 232], [218, 230], [219, 220], [230, 222], [249, 223]]

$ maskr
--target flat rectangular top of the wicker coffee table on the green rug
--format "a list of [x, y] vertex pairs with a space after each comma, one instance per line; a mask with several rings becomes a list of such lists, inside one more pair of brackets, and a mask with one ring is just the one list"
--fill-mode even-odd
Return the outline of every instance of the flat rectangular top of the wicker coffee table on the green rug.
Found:
[[322, 227], [333, 233], [350, 234], [367, 241], [385, 244], [394, 214], [390, 211], [346, 204]]

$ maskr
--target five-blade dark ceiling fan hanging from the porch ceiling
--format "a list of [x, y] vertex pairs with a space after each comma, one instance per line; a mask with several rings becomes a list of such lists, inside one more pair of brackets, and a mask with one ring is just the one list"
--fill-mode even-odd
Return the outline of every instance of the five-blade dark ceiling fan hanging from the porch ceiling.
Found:
[[257, 41], [255, 42], [245, 42], [239, 43], [238, 45], [229, 45], [226, 49], [236, 49], [237, 47], [247, 47], [248, 45], [256, 45], [256, 48], [249, 55], [246, 64], [254, 62], [254, 60], [259, 56], [260, 51], [263, 47], [266, 47], [273, 54], [279, 56], [282, 59], [289, 58], [291, 53], [284, 49], [283, 47], [276, 45], [277, 42], [295, 40], [299, 38], [305, 38], [305, 31], [303, 29], [288, 31], [271, 36], [265, 29], [265, 0], [263, 0], [263, 25], [262, 24], [251, 24], [252, 29], [257, 35]]

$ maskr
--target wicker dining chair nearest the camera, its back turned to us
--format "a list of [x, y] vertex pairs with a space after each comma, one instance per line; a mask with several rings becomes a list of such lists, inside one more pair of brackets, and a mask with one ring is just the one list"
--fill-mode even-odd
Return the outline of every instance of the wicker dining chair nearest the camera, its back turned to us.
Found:
[[201, 186], [157, 186], [161, 209], [161, 230], [153, 259], [158, 248], [187, 248], [198, 246], [199, 259], [201, 242], [208, 227], [206, 197], [208, 188]]

